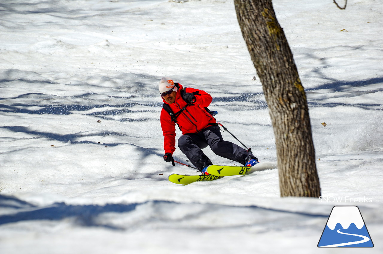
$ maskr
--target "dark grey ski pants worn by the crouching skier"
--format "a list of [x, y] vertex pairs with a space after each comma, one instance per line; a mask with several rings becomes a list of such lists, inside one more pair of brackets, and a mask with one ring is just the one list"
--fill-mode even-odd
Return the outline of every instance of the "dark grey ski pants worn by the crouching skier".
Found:
[[213, 165], [201, 150], [207, 146], [210, 146], [214, 154], [234, 160], [242, 165], [245, 165], [250, 159], [257, 159], [251, 152], [247, 152], [232, 142], [224, 141], [219, 126], [209, 126], [198, 133], [184, 134], [178, 139], [180, 150], [200, 171]]

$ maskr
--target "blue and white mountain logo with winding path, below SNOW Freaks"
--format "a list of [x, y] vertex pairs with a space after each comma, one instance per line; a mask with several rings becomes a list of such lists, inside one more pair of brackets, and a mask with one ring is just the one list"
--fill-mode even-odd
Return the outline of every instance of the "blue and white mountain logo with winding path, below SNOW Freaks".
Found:
[[332, 207], [318, 247], [374, 247], [359, 207]]

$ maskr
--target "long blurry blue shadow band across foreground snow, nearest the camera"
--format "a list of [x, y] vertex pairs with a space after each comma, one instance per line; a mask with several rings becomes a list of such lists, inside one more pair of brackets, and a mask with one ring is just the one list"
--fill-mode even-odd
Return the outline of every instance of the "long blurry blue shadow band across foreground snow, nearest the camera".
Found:
[[[157, 207], [158, 209], [154, 210], [166, 210], [166, 209], [174, 209], [174, 205], [190, 205], [183, 204], [180, 202], [173, 201], [144, 201], [141, 203], [133, 203], [133, 204], [106, 204], [106, 205], [69, 205], [64, 202], [54, 203], [47, 207], [37, 207], [36, 205], [30, 204], [25, 201], [21, 201], [15, 197], [11, 196], [3, 196], [0, 195], [0, 208], [14, 208], [14, 209], [25, 209], [23, 211], [13, 211], [13, 214], [0, 215], [0, 225], [8, 224], [8, 223], [17, 223], [22, 221], [33, 221], [33, 220], [51, 220], [51, 221], [59, 221], [65, 218], [74, 218], [75, 223], [79, 226], [95, 226], [95, 227], [103, 227], [111, 230], [126, 230], [126, 228], [122, 226], [110, 225], [106, 223], [100, 223], [98, 221], [98, 216], [105, 213], [127, 213], [133, 212], [136, 210], [137, 206], [151, 204]], [[250, 206], [231, 206], [231, 205], [220, 205], [220, 204], [199, 204], [193, 203], [195, 205], [203, 205], [208, 206], [209, 211], [212, 210], [220, 210], [220, 209], [251, 209], [254, 212], [257, 211], [267, 211], [267, 212], [277, 212], [284, 214], [286, 216], [289, 215], [298, 215], [304, 216], [305, 218], [327, 218], [328, 214], [314, 214], [314, 213], [305, 213], [305, 212], [292, 212], [288, 210], [282, 209], [272, 209], [272, 208], [264, 208], [256, 205]], [[162, 207], [162, 206], [165, 206]], [[169, 207], [168, 207], [169, 206]], [[186, 208], [185, 208], [186, 209]], [[148, 210], [148, 212], [151, 209]], [[206, 210], [206, 211], [207, 211]], [[152, 211], [153, 212], [153, 211]], [[185, 215], [187, 219], [193, 214]], [[157, 220], [160, 220], [160, 215], [156, 216]], [[168, 220], [168, 218], [164, 218]], [[176, 219], [179, 220], [179, 219]], [[181, 219], [182, 220], [182, 219]], [[274, 223], [274, 222], [273, 222]], [[248, 225], [246, 225], [248, 226]]]

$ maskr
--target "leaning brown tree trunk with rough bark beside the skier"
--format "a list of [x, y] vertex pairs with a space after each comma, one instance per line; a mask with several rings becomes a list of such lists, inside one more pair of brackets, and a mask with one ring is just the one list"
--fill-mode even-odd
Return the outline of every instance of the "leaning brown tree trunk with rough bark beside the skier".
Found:
[[234, 0], [234, 3], [269, 107], [281, 196], [319, 197], [306, 93], [272, 1]]

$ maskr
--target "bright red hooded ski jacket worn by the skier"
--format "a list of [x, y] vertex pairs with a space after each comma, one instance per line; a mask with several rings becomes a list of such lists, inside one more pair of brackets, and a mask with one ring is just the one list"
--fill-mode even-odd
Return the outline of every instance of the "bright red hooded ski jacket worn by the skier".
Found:
[[[187, 106], [187, 102], [185, 102], [185, 100], [181, 97], [180, 92], [184, 88], [182, 85], [178, 85], [180, 88], [177, 90], [177, 95], [174, 103], [168, 104], [164, 99], [162, 99], [164, 103], [170, 106], [173, 113], [177, 113], [183, 107]], [[213, 99], [211, 95], [205, 91], [191, 87], [186, 87], [184, 90], [185, 92], [199, 92], [199, 94], [195, 95], [195, 104], [188, 105], [185, 110], [183, 110], [183, 112], [177, 117], [177, 124], [181, 129], [182, 134], [198, 133], [209, 125], [216, 124], [216, 120], [214, 120], [211, 116], [208, 116], [202, 110], [202, 108], [208, 107], [210, 105], [211, 100]], [[196, 104], [199, 104], [199, 106]], [[161, 110], [160, 121], [162, 133], [164, 134], [165, 154], [167, 152], [173, 154], [175, 151], [175, 123], [172, 121], [169, 113], [164, 108]]]

